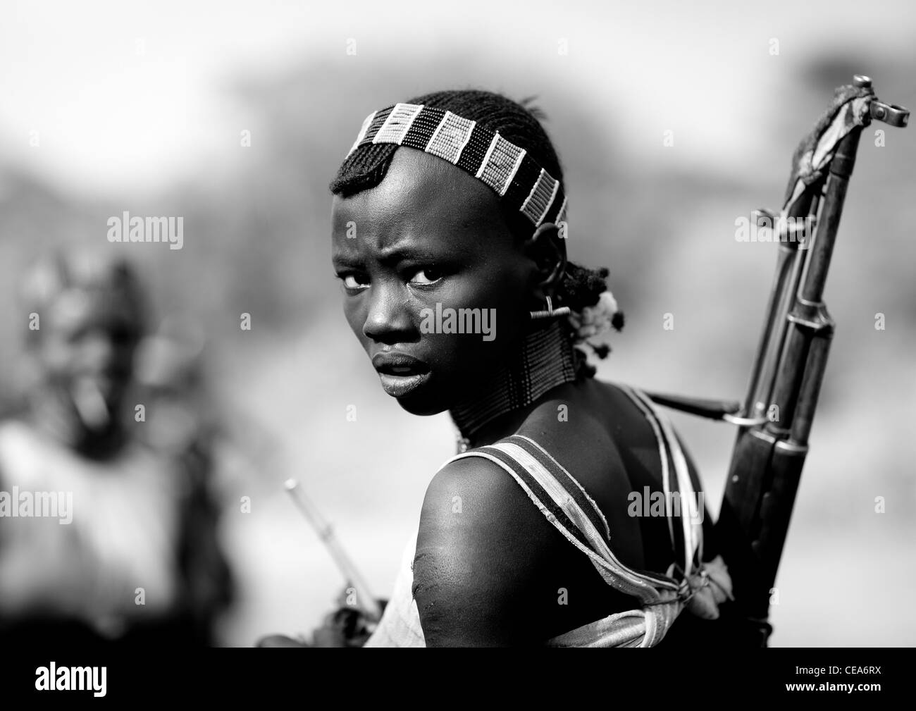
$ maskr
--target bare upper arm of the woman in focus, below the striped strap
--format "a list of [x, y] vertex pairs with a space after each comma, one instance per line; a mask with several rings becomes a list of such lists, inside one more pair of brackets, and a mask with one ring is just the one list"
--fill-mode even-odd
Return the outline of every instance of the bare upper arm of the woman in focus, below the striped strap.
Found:
[[540, 526], [550, 524], [498, 465], [467, 457], [442, 468], [423, 501], [413, 569], [427, 646], [537, 641]]

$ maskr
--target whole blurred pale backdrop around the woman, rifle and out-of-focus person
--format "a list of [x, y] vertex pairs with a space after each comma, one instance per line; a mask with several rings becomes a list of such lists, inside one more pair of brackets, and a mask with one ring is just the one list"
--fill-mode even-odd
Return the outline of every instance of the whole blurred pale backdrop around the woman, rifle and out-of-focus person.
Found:
[[[205, 391], [238, 582], [220, 643], [308, 632], [343, 586], [284, 493], [290, 476], [387, 596], [454, 432], [445, 413], [400, 410], [349, 332], [327, 184], [365, 115], [452, 88], [538, 97], [566, 174], [570, 257], [610, 268], [627, 313], [599, 377], [743, 398], [775, 248], [736, 242], [736, 219], [781, 206], [792, 150], [854, 73], [916, 105], [916, 10], [694, 5], [7, 2], [0, 402], [23, 396], [24, 268], [51, 246], [119, 252], [152, 302], [160, 340], [141, 351], [165, 339], [199, 374], [195, 402]], [[774, 646], [916, 644], [911, 606], [876, 614], [916, 585], [914, 161], [916, 127], [866, 130]], [[125, 211], [183, 216], [183, 248], [109, 244]], [[716, 513], [734, 430], [674, 420]]]

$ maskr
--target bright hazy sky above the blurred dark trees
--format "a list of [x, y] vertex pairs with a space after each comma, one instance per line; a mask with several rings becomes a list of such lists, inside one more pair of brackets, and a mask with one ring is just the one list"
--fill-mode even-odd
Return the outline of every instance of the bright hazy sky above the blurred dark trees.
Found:
[[594, 94], [597, 109], [630, 126], [624, 143], [638, 155], [652, 159], [646, 148], [671, 128], [680, 159], [733, 167], [759, 158], [738, 116], [748, 102], [778, 111], [773, 90], [812, 49], [877, 48], [916, 66], [911, 0], [739, 5], [427, 0], [380, 13], [378, 2], [5, 0], [0, 160], [69, 190], [156, 187], [204, 156], [219, 159], [216, 137], [237, 125], [221, 94], [234, 75], [343, 56], [347, 38], [357, 41], [354, 62], [475, 47], [494, 58], [495, 77], [498, 58], [511, 55], [535, 76]]

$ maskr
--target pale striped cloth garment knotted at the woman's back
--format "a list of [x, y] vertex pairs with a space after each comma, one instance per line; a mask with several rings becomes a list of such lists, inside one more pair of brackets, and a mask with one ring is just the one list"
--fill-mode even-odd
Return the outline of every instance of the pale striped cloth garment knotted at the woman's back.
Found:
[[[666, 494], [671, 492], [672, 487], [677, 487], [682, 496], [695, 496], [687, 461], [671, 423], [644, 393], [620, 387], [652, 425], [659, 443]], [[545, 518], [579, 552], [589, 557], [607, 585], [638, 601], [638, 607], [632, 610], [595, 620], [547, 640], [548, 646], [651, 647], [664, 638], [685, 607], [692, 602], [701, 602], [696, 596], [702, 587], [697, 584], [701, 578], [712, 576], [716, 585], [730, 591], [730, 581], [721, 559], [717, 558], [705, 566], [697, 563], [702, 558], [703, 529], [696, 520], [681, 517], [678, 535], [681, 539], [678, 547], [683, 552], [680, 579], [673, 576], [673, 564], [666, 574], [633, 570], [620, 563], [608, 546], [610, 531], [607, 521], [594, 500], [540, 444], [529, 437], [512, 435], [497, 443], [456, 454], [442, 466], [470, 456], [484, 457], [503, 468], [524, 489]], [[669, 527], [673, 537], [675, 529], [671, 516]], [[415, 551], [416, 534], [404, 550], [391, 601], [366, 647], [426, 646], [420, 614], [411, 594]], [[703, 606], [714, 607], [712, 594], [704, 593]]]

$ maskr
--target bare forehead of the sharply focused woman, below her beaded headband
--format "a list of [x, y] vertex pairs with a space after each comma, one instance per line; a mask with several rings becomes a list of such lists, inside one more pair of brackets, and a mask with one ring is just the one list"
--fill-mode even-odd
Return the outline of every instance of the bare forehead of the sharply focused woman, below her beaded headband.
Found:
[[[334, 253], [357, 245], [449, 234], [479, 240], [507, 234], [496, 193], [451, 163], [414, 148], [395, 152], [385, 179], [347, 198], [334, 196]], [[346, 239], [348, 226], [360, 239]]]

